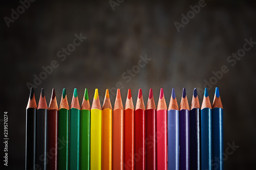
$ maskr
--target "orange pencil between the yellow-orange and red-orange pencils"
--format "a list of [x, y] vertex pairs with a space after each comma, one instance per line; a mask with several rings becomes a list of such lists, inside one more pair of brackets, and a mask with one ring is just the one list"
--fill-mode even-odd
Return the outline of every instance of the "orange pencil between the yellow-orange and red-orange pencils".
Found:
[[123, 104], [117, 89], [113, 110], [113, 169], [123, 169]]

